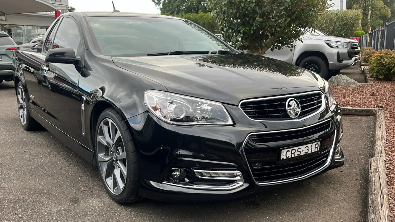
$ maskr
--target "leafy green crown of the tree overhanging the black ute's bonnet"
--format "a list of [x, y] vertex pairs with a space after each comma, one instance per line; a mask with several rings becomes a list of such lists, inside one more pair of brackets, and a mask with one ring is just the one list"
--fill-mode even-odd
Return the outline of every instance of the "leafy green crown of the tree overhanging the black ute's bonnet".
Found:
[[292, 47], [329, 8], [327, 0], [207, 0], [228, 42], [263, 55]]

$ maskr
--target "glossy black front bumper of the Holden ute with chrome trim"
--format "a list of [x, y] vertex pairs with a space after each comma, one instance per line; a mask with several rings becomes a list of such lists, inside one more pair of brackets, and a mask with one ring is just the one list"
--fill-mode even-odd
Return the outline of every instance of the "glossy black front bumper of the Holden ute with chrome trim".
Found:
[[[231, 116], [239, 112], [238, 107], [227, 106]], [[342, 135], [341, 111], [337, 106], [333, 112], [323, 116], [319, 113], [301, 122], [255, 122], [243, 120], [236, 126], [191, 126], [180, 127], [162, 122], [149, 112], [128, 119], [139, 149], [139, 170], [141, 186], [139, 195], [160, 201], [208, 201], [218, 199], [235, 199], [248, 194], [270, 190], [273, 187], [286, 186], [287, 182], [299, 181], [324, 173], [344, 164], [344, 155], [339, 147]], [[257, 132], [272, 132], [285, 129], [308, 128], [322, 122], [331, 122], [333, 128], [326, 134], [317, 134], [302, 140], [286, 141], [271, 147], [248, 147], [249, 135]], [[270, 130], [267, 130], [270, 129]], [[331, 140], [328, 148], [322, 148], [322, 155], [327, 155], [325, 164], [293, 175], [271, 181], [258, 181], [251, 167], [256, 164], [254, 152], [271, 149], [258, 158], [265, 164], [265, 158], [278, 153], [284, 147], [296, 147], [310, 141]], [[248, 148], [247, 148], [248, 147]], [[324, 145], [322, 145], [324, 147]], [[320, 154], [321, 155], [321, 154]], [[317, 156], [319, 156], [317, 154]], [[274, 163], [281, 164], [278, 156]], [[313, 156], [312, 159], [316, 158]], [[312, 160], [311, 158], [309, 160]], [[256, 158], [255, 158], [256, 160]], [[307, 160], [303, 160], [307, 161]], [[273, 162], [273, 158], [272, 158]], [[295, 163], [295, 162], [293, 162]], [[292, 163], [291, 163], [292, 164]], [[289, 166], [289, 165], [288, 165]], [[171, 179], [172, 169], [190, 170], [192, 182], [179, 183]], [[259, 168], [259, 167], [258, 167]], [[201, 179], [194, 170], [237, 171], [243, 176], [241, 180]], [[276, 186], [273, 186], [276, 185]]]

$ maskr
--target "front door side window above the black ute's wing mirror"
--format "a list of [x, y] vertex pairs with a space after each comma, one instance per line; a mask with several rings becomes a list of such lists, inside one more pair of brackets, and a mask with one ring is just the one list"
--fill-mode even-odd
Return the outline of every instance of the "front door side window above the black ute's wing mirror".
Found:
[[78, 32], [78, 26], [73, 19], [64, 17], [56, 32], [52, 48], [71, 48], [74, 49], [77, 55], [78, 47], [81, 47], [81, 37]]

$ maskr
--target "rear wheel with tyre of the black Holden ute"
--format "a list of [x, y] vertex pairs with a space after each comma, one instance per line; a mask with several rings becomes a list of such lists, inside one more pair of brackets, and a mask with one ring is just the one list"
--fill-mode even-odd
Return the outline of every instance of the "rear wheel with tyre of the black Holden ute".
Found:
[[41, 125], [30, 116], [29, 108], [28, 108], [28, 100], [26, 98], [25, 91], [23, 89], [23, 85], [21, 82], [18, 84], [17, 88], [17, 104], [18, 104], [18, 114], [19, 120], [21, 120], [22, 127], [24, 130], [39, 130]]

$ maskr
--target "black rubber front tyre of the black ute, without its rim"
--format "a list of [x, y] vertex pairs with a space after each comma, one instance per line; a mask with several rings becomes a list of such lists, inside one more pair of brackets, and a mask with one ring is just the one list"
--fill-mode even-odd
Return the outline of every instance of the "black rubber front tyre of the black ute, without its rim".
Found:
[[[100, 172], [100, 166], [99, 166], [99, 161], [98, 161], [98, 152], [97, 152], [97, 147], [98, 147], [98, 132], [100, 128], [100, 123], [104, 119], [110, 119], [112, 120], [117, 128], [119, 129], [120, 135], [122, 137], [123, 141], [123, 146], [126, 152], [126, 180], [125, 180], [125, 185], [124, 189], [119, 195], [113, 194], [108, 188], [107, 185], [101, 175]], [[120, 204], [127, 204], [127, 203], [132, 203], [135, 201], [138, 201], [140, 197], [138, 196], [138, 190], [139, 190], [139, 168], [138, 168], [138, 158], [137, 158], [137, 151], [133, 143], [132, 135], [130, 134], [130, 131], [128, 127], [126, 126], [125, 120], [122, 118], [120, 113], [117, 112], [115, 108], [108, 108], [105, 109], [102, 114], [100, 115], [97, 126], [96, 126], [96, 132], [95, 132], [95, 158], [96, 162], [98, 163], [98, 170], [100, 174], [100, 178], [102, 178], [102, 182], [104, 185], [105, 190], [109, 194], [109, 196], [116, 201], [117, 203]]]

